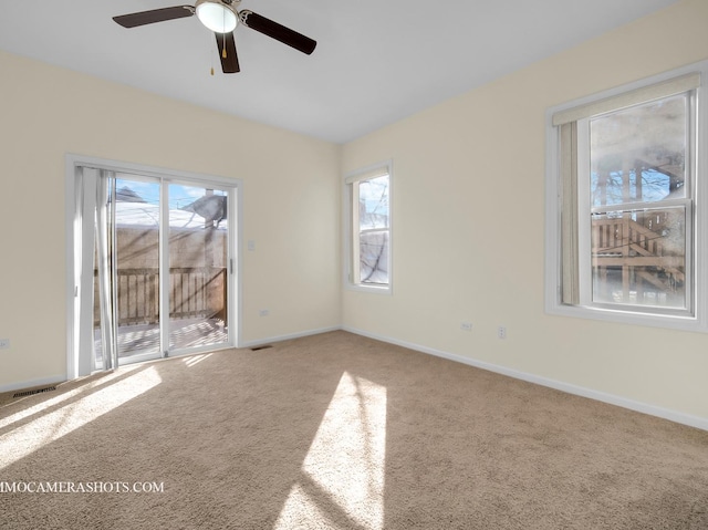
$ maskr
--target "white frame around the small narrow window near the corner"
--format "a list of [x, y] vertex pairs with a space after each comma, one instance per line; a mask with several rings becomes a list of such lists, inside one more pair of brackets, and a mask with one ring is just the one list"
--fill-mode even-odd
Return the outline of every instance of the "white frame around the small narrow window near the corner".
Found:
[[[358, 222], [355, 217], [358, 214], [358, 207], [354, 208], [354, 204], [358, 205], [358, 196], [354, 190], [354, 186], [361, 181], [388, 175], [388, 283], [362, 283], [354, 279], [358, 277]], [[394, 245], [394, 175], [393, 162], [385, 160], [373, 164], [344, 176], [343, 194], [342, 194], [342, 211], [343, 211], [343, 278], [346, 289], [362, 292], [373, 292], [379, 294], [393, 293], [393, 245]]]

